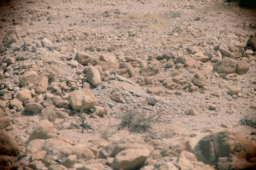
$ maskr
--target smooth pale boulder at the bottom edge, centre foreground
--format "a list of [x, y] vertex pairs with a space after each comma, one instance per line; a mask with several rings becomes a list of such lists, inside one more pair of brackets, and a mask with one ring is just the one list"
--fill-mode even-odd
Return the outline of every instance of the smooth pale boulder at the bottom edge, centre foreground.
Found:
[[117, 154], [111, 168], [115, 170], [134, 170], [145, 163], [150, 155], [148, 149], [127, 149]]

